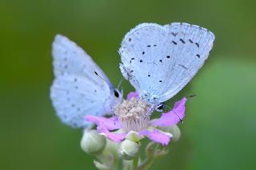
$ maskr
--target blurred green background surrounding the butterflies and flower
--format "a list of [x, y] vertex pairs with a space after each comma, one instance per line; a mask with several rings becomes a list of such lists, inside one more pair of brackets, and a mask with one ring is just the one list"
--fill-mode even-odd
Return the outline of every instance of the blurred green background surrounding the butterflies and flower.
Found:
[[255, 8], [253, 0], [1, 0], [0, 169], [95, 169], [80, 148], [82, 131], [63, 125], [51, 105], [51, 42], [55, 34], [74, 40], [117, 85], [118, 47], [142, 22], [189, 22], [216, 36], [206, 64], [175, 97], [197, 94], [182, 137], [152, 169], [254, 169]]

